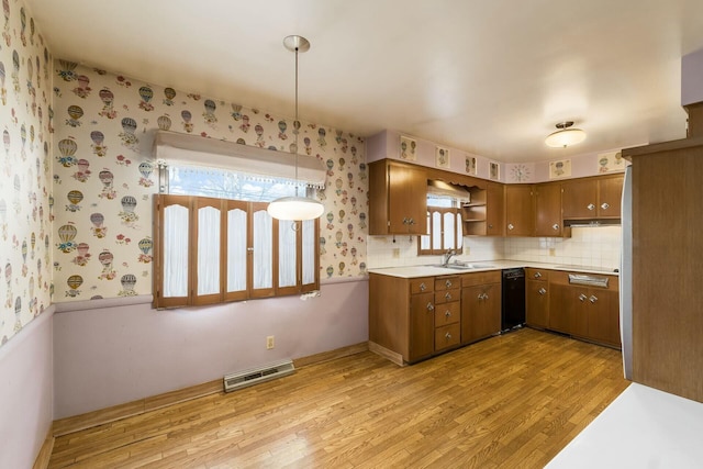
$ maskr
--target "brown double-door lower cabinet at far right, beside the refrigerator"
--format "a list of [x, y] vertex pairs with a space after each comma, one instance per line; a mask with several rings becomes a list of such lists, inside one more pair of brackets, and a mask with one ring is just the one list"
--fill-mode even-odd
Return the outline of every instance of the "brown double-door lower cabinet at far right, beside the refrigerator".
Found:
[[615, 276], [607, 287], [569, 283], [569, 272], [549, 272], [548, 328], [574, 337], [620, 347], [618, 282]]

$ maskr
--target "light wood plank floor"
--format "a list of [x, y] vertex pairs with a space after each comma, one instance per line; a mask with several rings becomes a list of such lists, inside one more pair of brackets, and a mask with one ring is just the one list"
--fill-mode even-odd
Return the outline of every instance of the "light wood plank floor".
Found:
[[620, 351], [533, 330], [366, 351], [58, 437], [49, 467], [542, 468], [627, 384]]

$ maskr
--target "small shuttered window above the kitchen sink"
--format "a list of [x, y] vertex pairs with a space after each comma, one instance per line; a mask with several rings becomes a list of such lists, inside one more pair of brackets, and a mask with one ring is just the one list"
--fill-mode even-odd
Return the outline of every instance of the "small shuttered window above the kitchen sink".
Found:
[[427, 196], [427, 234], [417, 241], [419, 255], [460, 250], [464, 242], [461, 209], [450, 197]]

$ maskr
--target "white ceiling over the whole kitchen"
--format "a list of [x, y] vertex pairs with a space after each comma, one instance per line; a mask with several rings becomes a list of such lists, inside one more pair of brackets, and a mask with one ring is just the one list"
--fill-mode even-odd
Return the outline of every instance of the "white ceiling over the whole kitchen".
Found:
[[[506, 163], [685, 136], [701, 0], [25, 0], [55, 58], [362, 136]], [[588, 132], [548, 148], [555, 124]]]

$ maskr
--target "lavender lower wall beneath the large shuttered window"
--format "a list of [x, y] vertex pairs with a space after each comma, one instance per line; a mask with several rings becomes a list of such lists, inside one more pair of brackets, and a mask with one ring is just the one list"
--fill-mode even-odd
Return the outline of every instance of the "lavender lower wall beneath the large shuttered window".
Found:
[[[368, 282], [327, 282], [321, 297], [156, 311], [150, 304], [55, 314], [55, 418], [368, 340]], [[65, 303], [64, 306], [68, 306]], [[276, 348], [266, 349], [266, 336]]]

